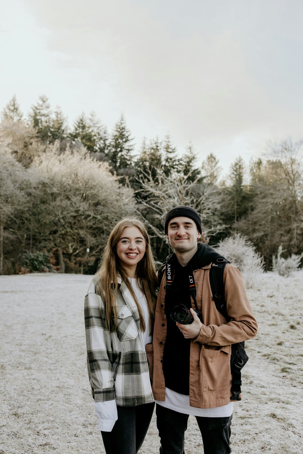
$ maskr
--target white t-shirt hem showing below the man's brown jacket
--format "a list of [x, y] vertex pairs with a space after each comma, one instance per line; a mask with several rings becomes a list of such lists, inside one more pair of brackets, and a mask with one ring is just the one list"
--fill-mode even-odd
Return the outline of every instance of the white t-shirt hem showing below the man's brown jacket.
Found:
[[176, 391], [165, 388], [165, 400], [156, 400], [156, 403], [170, 410], [184, 413], [184, 415], [204, 416], [207, 418], [223, 418], [233, 414], [233, 402], [222, 407], [195, 408], [189, 405], [189, 396], [176, 393]]

